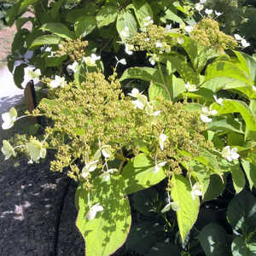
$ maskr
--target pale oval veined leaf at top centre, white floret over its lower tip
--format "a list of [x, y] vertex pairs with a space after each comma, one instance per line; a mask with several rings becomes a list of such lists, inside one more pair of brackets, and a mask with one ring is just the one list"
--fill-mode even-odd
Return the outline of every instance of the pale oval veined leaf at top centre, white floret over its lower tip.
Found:
[[122, 10], [119, 13], [116, 21], [116, 29], [119, 32], [119, 37], [122, 40], [125, 40], [125, 37], [123, 37], [120, 32], [125, 29], [125, 26], [129, 27], [131, 37], [137, 33], [137, 21], [129, 10]]

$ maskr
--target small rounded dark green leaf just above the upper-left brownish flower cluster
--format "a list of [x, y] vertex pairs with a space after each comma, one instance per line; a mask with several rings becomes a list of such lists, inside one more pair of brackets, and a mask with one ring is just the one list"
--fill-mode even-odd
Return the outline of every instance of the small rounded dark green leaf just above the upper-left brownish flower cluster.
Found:
[[84, 15], [75, 21], [74, 30], [79, 38], [82, 34], [88, 35], [96, 28], [96, 19], [94, 16]]

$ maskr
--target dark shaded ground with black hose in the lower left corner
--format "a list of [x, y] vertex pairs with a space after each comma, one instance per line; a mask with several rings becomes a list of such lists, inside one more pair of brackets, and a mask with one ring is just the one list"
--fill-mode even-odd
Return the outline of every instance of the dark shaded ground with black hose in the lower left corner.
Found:
[[0, 169], [0, 255], [84, 255], [84, 241], [75, 226], [76, 184], [49, 163], [14, 166], [3, 161]]

